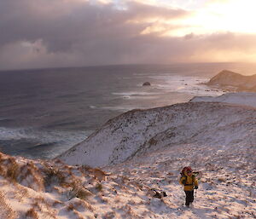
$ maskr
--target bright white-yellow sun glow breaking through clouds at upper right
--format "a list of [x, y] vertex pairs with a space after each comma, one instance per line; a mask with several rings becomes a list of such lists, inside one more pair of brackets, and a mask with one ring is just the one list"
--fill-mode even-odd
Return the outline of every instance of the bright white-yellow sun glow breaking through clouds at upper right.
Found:
[[190, 33], [200, 35], [213, 32], [254, 34], [256, 33], [256, 26], [253, 24], [256, 20], [255, 9], [256, 1], [253, 0], [210, 1], [199, 9], [191, 10], [189, 17], [162, 20], [162, 22], [158, 20], [151, 29], [164, 30], [160, 32], [161, 36], [175, 37], [183, 37]]

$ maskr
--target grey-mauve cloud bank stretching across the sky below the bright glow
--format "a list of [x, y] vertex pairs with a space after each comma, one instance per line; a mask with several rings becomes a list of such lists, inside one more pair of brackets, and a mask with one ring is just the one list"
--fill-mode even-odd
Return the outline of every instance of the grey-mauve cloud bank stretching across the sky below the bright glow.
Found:
[[190, 15], [134, 1], [1, 1], [0, 68], [208, 61], [208, 51], [227, 55], [232, 49], [253, 55], [255, 36], [166, 36], [184, 28], [174, 20]]

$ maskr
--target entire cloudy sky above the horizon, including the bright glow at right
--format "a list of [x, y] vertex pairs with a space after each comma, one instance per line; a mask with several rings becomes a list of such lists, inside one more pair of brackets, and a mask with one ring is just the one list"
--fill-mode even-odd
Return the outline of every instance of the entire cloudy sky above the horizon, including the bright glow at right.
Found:
[[0, 0], [0, 70], [256, 61], [255, 0]]

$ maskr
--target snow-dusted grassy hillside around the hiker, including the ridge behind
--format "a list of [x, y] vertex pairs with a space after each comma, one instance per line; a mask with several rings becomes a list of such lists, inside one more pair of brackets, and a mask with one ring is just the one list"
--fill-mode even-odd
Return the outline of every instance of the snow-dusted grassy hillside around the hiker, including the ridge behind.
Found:
[[[256, 218], [256, 108], [241, 105], [247, 96], [126, 112], [62, 154], [67, 164], [1, 154], [0, 218]], [[88, 165], [111, 175], [97, 182]], [[186, 165], [202, 173], [189, 209], [178, 184]]]

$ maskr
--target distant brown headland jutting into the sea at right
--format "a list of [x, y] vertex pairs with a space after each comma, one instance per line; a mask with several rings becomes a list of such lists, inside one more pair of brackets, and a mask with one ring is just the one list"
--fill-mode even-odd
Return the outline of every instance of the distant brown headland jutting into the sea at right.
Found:
[[256, 74], [244, 76], [236, 72], [223, 70], [210, 79], [209, 86], [218, 86], [229, 91], [256, 92]]

